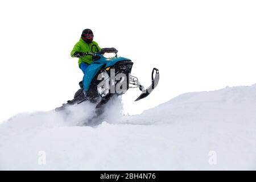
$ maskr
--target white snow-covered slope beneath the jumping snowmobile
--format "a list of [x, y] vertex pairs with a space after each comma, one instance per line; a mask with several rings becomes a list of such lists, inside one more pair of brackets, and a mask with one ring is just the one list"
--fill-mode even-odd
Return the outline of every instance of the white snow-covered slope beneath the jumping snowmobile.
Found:
[[0, 169], [256, 169], [256, 84], [181, 94], [139, 115], [113, 102], [93, 126], [92, 104], [3, 122]]

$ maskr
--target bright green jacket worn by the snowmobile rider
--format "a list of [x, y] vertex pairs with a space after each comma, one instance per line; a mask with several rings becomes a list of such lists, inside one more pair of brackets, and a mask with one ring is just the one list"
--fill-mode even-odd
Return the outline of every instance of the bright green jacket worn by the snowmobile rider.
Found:
[[[73, 50], [71, 51], [71, 57], [75, 57], [75, 52], [98, 52], [101, 48], [98, 46], [97, 42], [93, 41], [92, 43], [86, 43], [82, 38], [80, 38], [79, 42], [76, 43]], [[79, 67], [82, 62], [87, 64], [92, 63], [92, 56], [87, 55], [79, 58]]]

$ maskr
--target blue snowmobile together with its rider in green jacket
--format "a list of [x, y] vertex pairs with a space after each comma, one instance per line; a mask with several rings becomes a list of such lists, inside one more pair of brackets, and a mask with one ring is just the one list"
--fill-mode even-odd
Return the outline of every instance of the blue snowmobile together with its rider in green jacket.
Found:
[[[101, 113], [106, 103], [115, 96], [121, 96], [129, 88], [139, 88], [141, 95], [135, 100], [147, 97], [156, 88], [159, 81], [159, 71], [154, 68], [151, 74], [151, 85], [146, 89], [138, 78], [131, 76], [133, 62], [117, 55], [115, 48], [100, 48], [93, 41], [92, 30], [82, 31], [79, 42], [74, 46], [71, 56], [79, 57], [79, 67], [84, 73], [72, 100], [56, 107], [55, 111], [65, 110], [68, 106], [84, 101], [96, 104], [97, 113]], [[155, 76], [154, 76], [155, 75]]]

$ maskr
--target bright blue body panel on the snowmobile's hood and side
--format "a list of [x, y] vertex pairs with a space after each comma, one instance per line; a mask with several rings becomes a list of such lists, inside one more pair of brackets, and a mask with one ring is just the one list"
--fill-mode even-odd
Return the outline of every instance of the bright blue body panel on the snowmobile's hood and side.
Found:
[[131, 61], [130, 59], [127, 59], [125, 57], [112, 57], [112, 58], [106, 58], [102, 55], [98, 55], [101, 58], [93, 61], [92, 64], [89, 65], [89, 67], [85, 71], [85, 83], [84, 83], [84, 90], [87, 92], [90, 88], [90, 83], [92, 82], [92, 79], [94, 76], [97, 75], [97, 73], [102, 68], [108, 68], [112, 67], [116, 63], [120, 61]]

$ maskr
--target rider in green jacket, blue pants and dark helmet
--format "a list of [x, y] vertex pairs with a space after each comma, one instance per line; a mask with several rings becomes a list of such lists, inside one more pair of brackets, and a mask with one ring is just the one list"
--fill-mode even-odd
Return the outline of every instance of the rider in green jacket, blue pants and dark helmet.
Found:
[[[98, 52], [101, 51], [101, 48], [98, 46], [98, 43], [93, 41], [93, 32], [89, 28], [82, 31], [81, 38], [79, 42], [77, 42], [74, 48], [71, 51], [71, 57], [79, 58], [79, 68], [84, 73], [84, 77], [82, 78], [82, 83], [85, 85], [86, 82], [86, 69], [93, 61], [92, 55], [86, 55], [88, 52]], [[86, 91], [84, 89], [84, 95], [86, 97]]]

